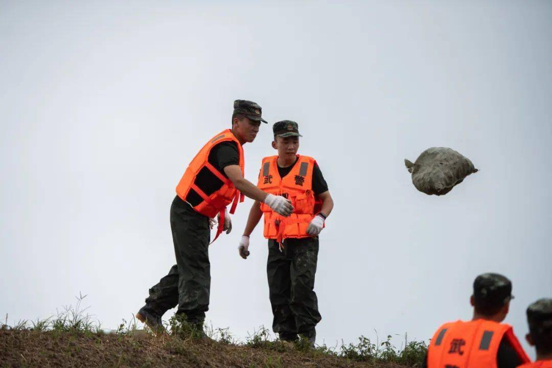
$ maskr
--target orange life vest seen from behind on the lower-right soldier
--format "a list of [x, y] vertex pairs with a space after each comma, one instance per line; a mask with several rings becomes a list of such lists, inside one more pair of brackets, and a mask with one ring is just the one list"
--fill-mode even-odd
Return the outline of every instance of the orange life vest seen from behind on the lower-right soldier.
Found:
[[503, 337], [508, 339], [524, 363], [530, 361], [514, 335], [512, 326], [477, 319], [443, 324], [429, 343], [427, 366], [428, 368], [497, 368], [496, 355]]

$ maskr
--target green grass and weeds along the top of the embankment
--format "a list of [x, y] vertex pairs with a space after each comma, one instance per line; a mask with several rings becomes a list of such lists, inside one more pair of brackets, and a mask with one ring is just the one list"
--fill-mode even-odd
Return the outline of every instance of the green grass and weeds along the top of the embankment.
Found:
[[[82, 302], [86, 298], [86, 295], [79, 295], [76, 298], [77, 302], [75, 306], [70, 305], [63, 307], [61, 311], [56, 311], [56, 314], [49, 318], [36, 319], [34, 321], [20, 320], [14, 322], [12, 326], [9, 326], [8, 316], [6, 316], [6, 322], [0, 322], [0, 329], [33, 330], [36, 332], [51, 331], [54, 333], [86, 335], [105, 334], [99, 321], [95, 321], [93, 317], [88, 314], [88, 307], [82, 307]], [[341, 345], [336, 344], [336, 346], [328, 347], [326, 344], [323, 344], [317, 345], [313, 349], [305, 338], [299, 338], [293, 343], [284, 342], [277, 338], [273, 338], [270, 330], [264, 327], [254, 330], [252, 334], [248, 334], [245, 342], [241, 342], [233, 337], [228, 327], [213, 328], [213, 326], [206, 325], [204, 326], [204, 330], [198, 330], [194, 328], [193, 325], [188, 324], [182, 315], [171, 317], [164, 327], [169, 335], [177, 338], [177, 340], [168, 339], [166, 341], [166, 349], [176, 354], [190, 357], [192, 357], [193, 354], [190, 354], [186, 345], [179, 344], [178, 340], [210, 339], [220, 344], [248, 346], [251, 349], [262, 349], [274, 351], [275, 353], [293, 351], [296, 354], [307, 354], [312, 358], [316, 358], [317, 356], [332, 356], [348, 361], [396, 363], [410, 367], [421, 366], [427, 353], [427, 345], [425, 342], [409, 342], [407, 335], [405, 335], [404, 343], [402, 343], [399, 348], [392, 344], [392, 337], [388, 335], [381, 343], [379, 339], [376, 339], [374, 343], [369, 338], [360, 336], [358, 338], [358, 343], [345, 344], [342, 341]], [[137, 329], [136, 319], [132, 317], [129, 322], [123, 319], [123, 322], [121, 322], [116, 330], [110, 330], [110, 334], [121, 339], [133, 335]], [[152, 334], [149, 330], [148, 333]], [[273, 357], [268, 355], [265, 365], [267, 367], [279, 367], [282, 365], [282, 361], [279, 359], [278, 356]]]

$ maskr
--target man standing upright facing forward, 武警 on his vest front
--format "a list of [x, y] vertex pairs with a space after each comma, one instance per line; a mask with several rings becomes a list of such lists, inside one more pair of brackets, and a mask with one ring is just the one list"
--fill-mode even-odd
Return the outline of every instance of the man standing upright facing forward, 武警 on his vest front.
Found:
[[273, 131], [272, 147], [278, 156], [263, 159], [257, 186], [289, 199], [294, 211], [283, 217], [266, 204], [254, 202], [238, 249], [241, 257], [247, 258], [249, 237], [264, 214], [272, 328], [282, 340], [296, 340], [299, 334], [314, 346], [315, 326], [322, 318], [314, 292], [318, 234], [333, 209], [333, 200], [315, 159], [297, 154], [298, 124], [279, 121]]

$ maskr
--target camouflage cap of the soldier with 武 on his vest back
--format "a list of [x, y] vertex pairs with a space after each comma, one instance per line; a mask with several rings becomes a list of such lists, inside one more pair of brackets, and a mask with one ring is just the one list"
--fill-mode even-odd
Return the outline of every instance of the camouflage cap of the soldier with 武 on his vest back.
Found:
[[474, 281], [475, 300], [489, 305], [505, 305], [512, 300], [512, 281], [500, 274], [482, 274]]

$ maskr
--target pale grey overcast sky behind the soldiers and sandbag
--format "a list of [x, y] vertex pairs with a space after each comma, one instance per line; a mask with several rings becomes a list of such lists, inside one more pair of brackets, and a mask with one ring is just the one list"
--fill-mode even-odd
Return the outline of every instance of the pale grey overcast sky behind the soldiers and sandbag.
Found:
[[[486, 271], [513, 281], [523, 339], [552, 296], [551, 20], [549, 1], [0, 1], [0, 315], [82, 292], [103, 326], [131, 318], [175, 263], [178, 180], [249, 99], [271, 124], [246, 177], [295, 120], [335, 200], [318, 343], [429, 339]], [[418, 192], [403, 160], [432, 146], [480, 171]], [[251, 204], [210, 248], [207, 318], [238, 338], [272, 325], [261, 226], [237, 253]]]

